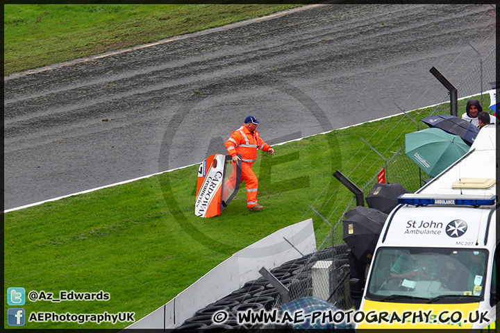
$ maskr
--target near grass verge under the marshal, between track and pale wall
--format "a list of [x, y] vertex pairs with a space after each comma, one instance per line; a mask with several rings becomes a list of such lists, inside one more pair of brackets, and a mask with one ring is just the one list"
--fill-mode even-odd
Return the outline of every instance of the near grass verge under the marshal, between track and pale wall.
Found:
[[[410, 114], [426, 117], [426, 111]], [[194, 216], [197, 166], [8, 212], [4, 291], [24, 287], [26, 292], [58, 296], [60, 290], [103, 290], [110, 293], [110, 300], [28, 302], [26, 312], [133, 311], [138, 320], [236, 251], [287, 225], [313, 218], [317, 241], [324, 239], [330, 228], [308, 203], [335, 223], [352, 195], [332, 177], [333, 172], [341, 169], [361, 184], [383, 165], [360, 137], [384, 133], [378, 144], [372, 139], [383, 152], [401, 146], [401, 133], [414, 130], [408, 117], [397, 116], [275, 146], [274, 155], [259, 152], [253, 169], [265, 210], [258, 213], [248, 212], [242, 189], [221, 215]], [[372, 164], [375, 167], [367, 172]], [[27, 323], [24, 328], [127, 325]]]

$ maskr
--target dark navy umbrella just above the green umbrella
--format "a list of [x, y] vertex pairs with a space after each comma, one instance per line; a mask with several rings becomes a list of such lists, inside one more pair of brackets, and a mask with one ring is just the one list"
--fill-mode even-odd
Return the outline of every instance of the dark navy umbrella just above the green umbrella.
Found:
[[469, 121], [451, 116], [450, 114], [438, 114], [437, 116], [422, 119], [430, 127], [440, 128], [444, 132], [458, 135], [466, 144], [472, 145], [479, 133], [479, 128], [469, 123]]

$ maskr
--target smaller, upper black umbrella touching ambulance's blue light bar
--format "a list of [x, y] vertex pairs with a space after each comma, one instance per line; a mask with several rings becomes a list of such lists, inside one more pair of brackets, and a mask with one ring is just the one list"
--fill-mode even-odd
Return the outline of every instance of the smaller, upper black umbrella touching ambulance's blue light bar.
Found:
[[368, 207], [389, 214], [398, 205], [398, 196], [405, 193], [410, 193], [410, 191], [405, 189], [399, 182], [375, 184], [365, 200]]

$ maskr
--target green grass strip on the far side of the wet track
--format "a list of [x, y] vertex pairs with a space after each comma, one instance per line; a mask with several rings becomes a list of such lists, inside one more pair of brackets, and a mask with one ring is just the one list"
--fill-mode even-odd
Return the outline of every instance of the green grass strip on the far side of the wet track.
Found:
[[6, 4], [3, 75], [269, 15], [299, 4]]

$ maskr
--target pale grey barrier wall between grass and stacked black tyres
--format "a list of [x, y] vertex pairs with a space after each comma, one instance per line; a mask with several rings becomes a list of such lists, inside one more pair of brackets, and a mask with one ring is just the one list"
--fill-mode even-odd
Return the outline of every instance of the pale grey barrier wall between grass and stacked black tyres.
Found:
[[181, 291], [167, 304], [141, 318], [126, 329], [172, 329], [181, 325], [194, 312], [240, 289], [242, 285], [260, 277], [262, 267], [268, 270], [301, 257], [289, 243], [306, 255], [316, 251], [313, 220], [289, 225], [238, 251], [197, 282]]

